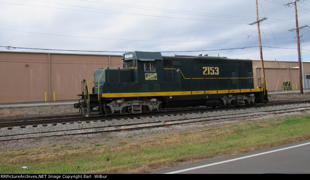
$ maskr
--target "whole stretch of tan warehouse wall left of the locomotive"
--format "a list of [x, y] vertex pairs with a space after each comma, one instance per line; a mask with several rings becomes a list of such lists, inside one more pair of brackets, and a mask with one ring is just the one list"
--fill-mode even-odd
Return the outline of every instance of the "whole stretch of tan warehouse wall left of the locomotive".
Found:
[[0, 52], [0, 103], [45, 101], [45, 92], [47, 101], [54, 92], [56, 101], [78, 99], [81, 81], [109, 66], [122, 67], [122, 56]]

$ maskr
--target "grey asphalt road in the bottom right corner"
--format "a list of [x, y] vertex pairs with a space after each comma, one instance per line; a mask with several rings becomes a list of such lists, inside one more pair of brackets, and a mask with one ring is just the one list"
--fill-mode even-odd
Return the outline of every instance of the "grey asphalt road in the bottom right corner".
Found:
[[146, 174], [310, 174], [310, 139], [193, 162]]

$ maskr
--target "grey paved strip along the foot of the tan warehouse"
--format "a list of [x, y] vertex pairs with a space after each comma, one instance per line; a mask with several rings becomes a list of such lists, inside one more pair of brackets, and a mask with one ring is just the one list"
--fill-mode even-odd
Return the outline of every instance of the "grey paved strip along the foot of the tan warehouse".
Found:
[[[310, 89], [304, 89], [304, 92], [310, 92]], [[282, 93], [300, 93], [300, 90], [288, 90], [288, 91], [269, 91], [268, 94], [282, 94]], [[51, 106], [51, 105], [73, 105], [78, 100], [67, 101], [47, 101], [47, 102], [20, 102], [20, 103], [4, 103], [0, 104], [1, 108], [13, 108], [13, 107], [31, 107], [31, 106]]]

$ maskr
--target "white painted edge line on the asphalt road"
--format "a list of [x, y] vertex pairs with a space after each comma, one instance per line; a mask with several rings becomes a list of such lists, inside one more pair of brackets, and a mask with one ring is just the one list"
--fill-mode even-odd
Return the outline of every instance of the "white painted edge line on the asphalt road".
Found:
[[179, 171], [173, 171], [173, 172], [165, 173], [165, 174], [181, 173], [181, 172], [189, 171], [189, 170], [193, 170], [193, 169], [199, 169], [199, 168], [204, 168], [204, 167], [208, 167], [208, 166], [212, 166], [212, 165], [223, 164], [223, 163], [226, 163], [226, 162], [237, 161], [237, 160], [245, 159], [245, 158], [248, 158], [248, 157], [254, 157], [254, 156], [259, 156], [259, 155], [268, 154], [268, 153], [272, 153], [272, 152], [282, 151], [282, 150], [286, 150], [286, 149], [290, 149], [290, 148], [296, 148], [296, 147], [304, 146], [304, 145], [307, 145], [307, 144], [310, 144], [310, 142], [309, 143], [305, 143], [305, 144], [296, 145], [296, 146], [291, 146], [291, 147], [288, 147], [288, 148], [282, 148], [282, 149], [277, 149], [277, 150], [273, 150], [273, 151], [253, 154], [253, 155], [250, 155], [250, 156], [239, 157], [239, 158], [231, 159], [231, 160], [227, 160], [227, 161], [221, 161], [221, 162], [216, 162], [216, 163], [212, 163], [212, 164], [207, 164], [207, 165], [197, 166], [197, 167], [193, 167], [193, 168], [183, 169], [183, 170], [179, 170]]

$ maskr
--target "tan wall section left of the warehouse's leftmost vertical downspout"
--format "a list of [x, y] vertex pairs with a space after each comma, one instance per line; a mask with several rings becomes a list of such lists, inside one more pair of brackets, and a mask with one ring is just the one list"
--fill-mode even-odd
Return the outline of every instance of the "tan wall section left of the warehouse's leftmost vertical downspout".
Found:
[[1, 53], [0, 61], [0, 103], [44, 101], [43, 92], [48, 92], [48, 56]]

